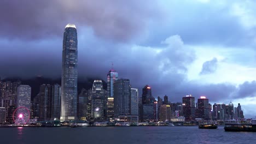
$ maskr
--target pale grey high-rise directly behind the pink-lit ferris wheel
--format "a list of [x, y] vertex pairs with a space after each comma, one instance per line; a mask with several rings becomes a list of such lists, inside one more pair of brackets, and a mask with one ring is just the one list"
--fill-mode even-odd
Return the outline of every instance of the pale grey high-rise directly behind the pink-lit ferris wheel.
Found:
[[28, 110], [31, 109], [31, 87], [28, 85], [20, 85], [17, 91], [17, 107], [24, 106]]

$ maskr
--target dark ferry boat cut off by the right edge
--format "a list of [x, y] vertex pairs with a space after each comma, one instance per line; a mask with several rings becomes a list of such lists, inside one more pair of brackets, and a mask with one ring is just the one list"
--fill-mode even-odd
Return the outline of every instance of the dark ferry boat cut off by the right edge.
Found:
[[225, 131], [256, 132], [256, 119], [232, 119], [225, 121]]

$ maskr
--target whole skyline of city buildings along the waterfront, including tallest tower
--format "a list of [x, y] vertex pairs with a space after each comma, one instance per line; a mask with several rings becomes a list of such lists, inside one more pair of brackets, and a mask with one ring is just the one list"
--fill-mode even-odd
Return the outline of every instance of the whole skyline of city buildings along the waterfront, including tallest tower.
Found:
[[119, 79], [112, 67], [107, 74], [107, 89], [102, 80], [95, 80], [90, 89], [78, 92], [78, 40], [77, 29], [68, 24], [63, 34], [61, 85], [43, 84], [31, 101], [31, 87], [20, 81], [0, 80], [0, 123], [13, 123], [13, 113], [18, 107], [30, 110], [30, 117], [37, 121], [119, 121], [119, 122], [193, 122], [243, 118], [241, 105], [230, 103], [209, 104], [206, 97], [197, 102], [191, 95], [182, 103], [170, 103], [152, 95], [146, 85], [139, 97], [129, 79]]

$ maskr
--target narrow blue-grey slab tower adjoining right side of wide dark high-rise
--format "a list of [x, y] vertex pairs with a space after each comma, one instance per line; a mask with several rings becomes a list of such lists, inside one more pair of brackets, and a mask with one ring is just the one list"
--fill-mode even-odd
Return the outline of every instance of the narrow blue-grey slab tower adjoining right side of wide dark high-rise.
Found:
[[131, 115], [138, 116], [138, 89], [131, 88]]

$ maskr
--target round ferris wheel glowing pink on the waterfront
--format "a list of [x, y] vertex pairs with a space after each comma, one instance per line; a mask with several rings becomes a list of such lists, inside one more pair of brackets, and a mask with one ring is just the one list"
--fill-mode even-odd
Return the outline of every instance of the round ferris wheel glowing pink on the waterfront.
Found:
[[13, 121], [15, 124], [27, 124], [30, 121], [30, 110], [27, 107], [18, 107], [13, 112]]

